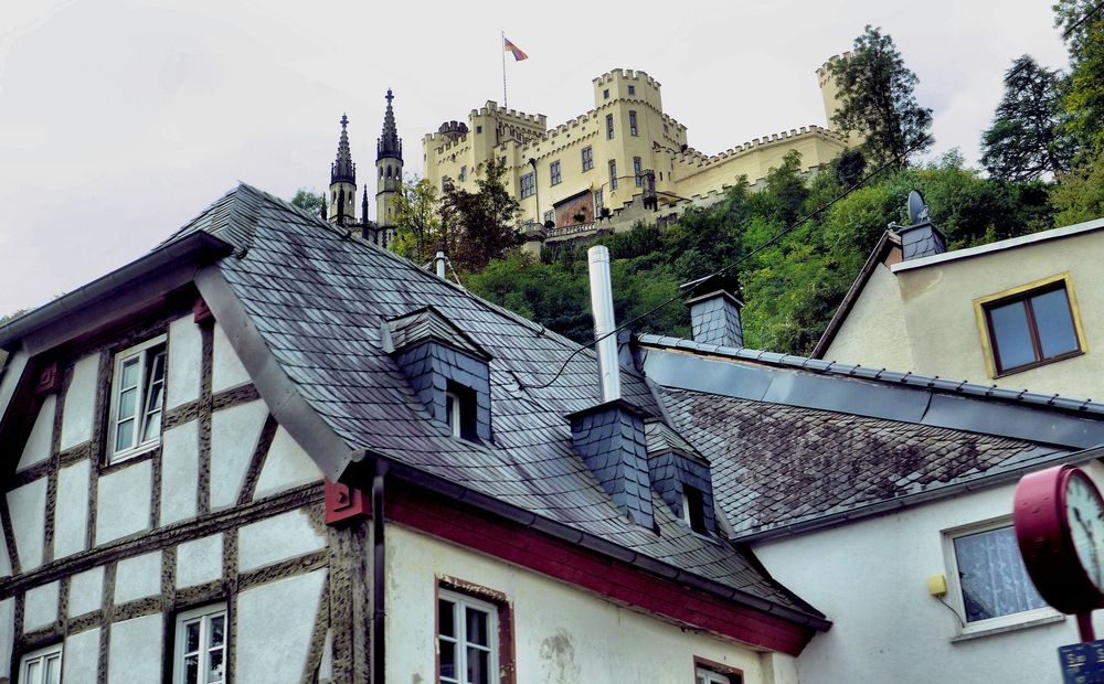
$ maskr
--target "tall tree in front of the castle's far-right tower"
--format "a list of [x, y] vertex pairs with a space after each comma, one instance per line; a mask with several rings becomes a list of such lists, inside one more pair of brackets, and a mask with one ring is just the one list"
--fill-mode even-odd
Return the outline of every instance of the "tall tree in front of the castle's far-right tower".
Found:
[[893, 39], [867, 25], [854, 39], [854, 54], [831, 63], [839, 87], [839, 111], [832, 122], [842, 131], [866, 136], [867, 159], [882, 164], [931, 147], [932, 110], [916, 104], [916, 75], [904, 65]]

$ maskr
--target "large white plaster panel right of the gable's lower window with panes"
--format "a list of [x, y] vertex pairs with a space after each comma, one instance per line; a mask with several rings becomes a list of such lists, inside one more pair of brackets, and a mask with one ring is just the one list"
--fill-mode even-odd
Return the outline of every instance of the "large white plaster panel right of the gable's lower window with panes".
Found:
[[302, 678], [325, 581], [326, 570], [320, 569], [263, 584], [237, 597], [238, 684]]

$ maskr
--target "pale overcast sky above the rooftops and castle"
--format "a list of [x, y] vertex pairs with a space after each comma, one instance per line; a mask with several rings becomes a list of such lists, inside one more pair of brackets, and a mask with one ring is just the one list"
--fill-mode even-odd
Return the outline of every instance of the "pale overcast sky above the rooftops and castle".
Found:
[[530, 57], [507, 64], [511, 107], [554, 126], [593, 106], [593, 77], [643, 70], [715, 153], [825, 125], [816, 67], [880, 25], [934, 110], [935, 153], [975, 162], [1011, 61], [1065, 66], [1050, 4], [9, 0], [0, 314], [142, 255], [238, 180], [284, 197], [326, 188], [342, 113], [371, 179], [388, 87], [420, 173], [425, 132], [501, 103], [499, 31]]

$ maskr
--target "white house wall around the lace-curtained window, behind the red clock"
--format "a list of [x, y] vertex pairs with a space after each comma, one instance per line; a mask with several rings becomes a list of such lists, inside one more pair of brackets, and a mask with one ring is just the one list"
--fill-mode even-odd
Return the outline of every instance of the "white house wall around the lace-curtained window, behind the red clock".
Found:
[[899, 684], [1059, 682], [1057, 649], [1078, 641], [1074, 620], [953, 643], [958, 621], [927, 594], [928, 577], [949, 573], [941, 532], [1010, 515], [1013, 491], [1008, 484], [755, 545], [775, 579], [832, 620], [798, 658], [802, 684], [852, 682], [857, 673]]

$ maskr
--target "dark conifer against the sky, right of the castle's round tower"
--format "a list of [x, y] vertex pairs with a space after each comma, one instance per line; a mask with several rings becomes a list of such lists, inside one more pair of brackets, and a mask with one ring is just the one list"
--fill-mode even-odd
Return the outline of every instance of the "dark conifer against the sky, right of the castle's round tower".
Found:
[[1033, 181], [1069, 169], [1072, 147], [1062, 132], [1062, 84], [1055, 70], [1029, 55], [1005, 74], [1005, 96], [981, 133], [981, 165], [992, 178]]

